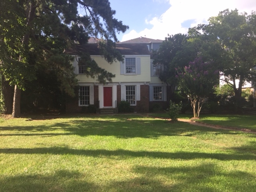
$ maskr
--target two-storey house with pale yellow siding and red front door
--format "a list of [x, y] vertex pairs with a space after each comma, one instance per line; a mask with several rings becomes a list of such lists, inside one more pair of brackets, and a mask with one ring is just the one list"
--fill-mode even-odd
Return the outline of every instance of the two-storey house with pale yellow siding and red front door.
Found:
[[74, 60], [74, 72], [78, 78], [77, 96], [66, 103], [66, 112], [81, 112], [84, 106], [96, 108], [118, 108], [122, 100], [130, 102], [134, 112], [148, 112], [150, 104], [158, 103], [166, 107], [166, 85], [158, 78], [159, 69], [153, 68], [151, 52], [146, 43], [117, 43], [116, 49], [124, 55], [124, 62], [109, 64], [99, 53], [94, 40], [80, 46], [79, 51], [88, 52], [98, 66], [115, 74], [112, 82], [100, 84], [83, 74], [83, 66], [78, 65], [76, 50], [68, 50]]

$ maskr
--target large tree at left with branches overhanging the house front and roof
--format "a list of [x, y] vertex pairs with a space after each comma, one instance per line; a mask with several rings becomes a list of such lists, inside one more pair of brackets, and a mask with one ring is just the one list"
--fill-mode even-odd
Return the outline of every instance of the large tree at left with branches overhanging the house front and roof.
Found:
[[[78, 8], [86, 15], [79, 16]], [[74, 95], [76, 84], [67, 48], [84, 44], [89, 36], [106, 39], [100, 45], [109, 62], [122, 58], [113, 52], [116, 33], [125, 32], [128, 26], [113, 16], [108, 0], [5, 0], [0, 4], [0, 61], [4, 80], [14, 86], [12, 116], [20, 116], [20, 95], [25, 82], [37, 78], [36, 71], [55, 71], [60, 90]], [[110, 52], [110, 54], [109, 54]], [[114, 53], [114, 54], [113, 54]], [[112, 55], [112, 56], [111, 56]], [[90, 60], [90, 58], [88, 58]], [[97, 66], [94, 64], [94, 66]], [[89, 70], [88, 70], [89, 71]], [[111, 78], [104, 70], [100, 81]], [[52, 73], [51, 73], [52, 74]], [[95, 74], [88, 74], [95, 76]]]

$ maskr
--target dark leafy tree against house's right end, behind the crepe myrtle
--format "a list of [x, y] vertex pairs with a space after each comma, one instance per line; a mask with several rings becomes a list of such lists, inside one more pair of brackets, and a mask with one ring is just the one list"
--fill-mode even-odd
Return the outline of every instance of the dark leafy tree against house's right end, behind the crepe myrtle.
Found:
[[197, 28], [190, 28], [188, 34], [175, 34], [169, 36], [160, 45], [158, 51], [154, 52], [154, 65], [162, 65], [164, 70], [159, 78], [166, 82], [172, 95], [177, 82], [176, 68], [184, 68], [189, 62], [200, 57], [205, 61], [211, 61], [218, 68], [216, 59], [220, 58], [220, 48], [211, 36], [201, 34]]

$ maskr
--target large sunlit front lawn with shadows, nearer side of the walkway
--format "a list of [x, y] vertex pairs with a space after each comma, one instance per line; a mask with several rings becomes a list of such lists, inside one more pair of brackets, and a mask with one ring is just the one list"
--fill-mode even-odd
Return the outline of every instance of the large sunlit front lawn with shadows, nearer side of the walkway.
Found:
[[1, 192], [249, 192], [256, 135], [138, 115], [0, 118]]

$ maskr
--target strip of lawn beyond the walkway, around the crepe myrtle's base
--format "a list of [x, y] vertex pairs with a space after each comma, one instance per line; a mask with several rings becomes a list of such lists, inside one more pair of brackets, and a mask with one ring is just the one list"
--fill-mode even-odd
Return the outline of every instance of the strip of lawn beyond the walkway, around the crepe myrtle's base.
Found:
[[[169, 118], [167, 113], [152, 114], [150, 116]], [[178, 118], [190, 119], [193, 114], [179, 114]], [[256, 115], [235, 115], [235, 114], [200, 114], [197, 121], [207, 124], [228, 126], [234, 128], [247, 128], [256, 130]]]

